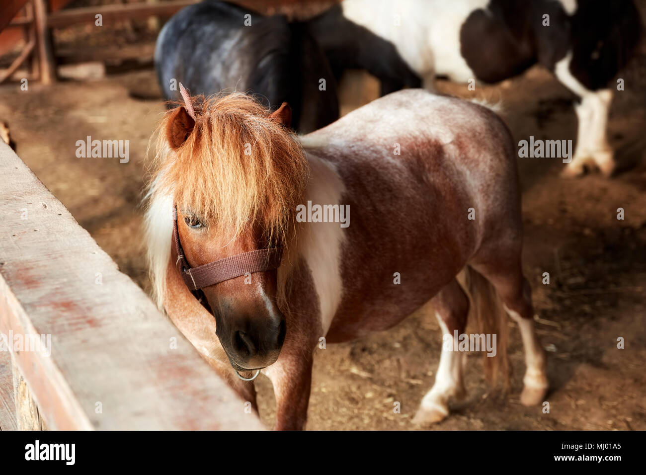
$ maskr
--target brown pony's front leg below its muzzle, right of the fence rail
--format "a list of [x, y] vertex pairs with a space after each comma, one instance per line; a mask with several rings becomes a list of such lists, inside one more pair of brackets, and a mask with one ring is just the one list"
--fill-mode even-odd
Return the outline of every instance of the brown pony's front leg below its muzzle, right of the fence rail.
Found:
[[276, 430], [304, 430], [312, 384], [312, 358], [283, 355], [263, 370], [274, 386]]

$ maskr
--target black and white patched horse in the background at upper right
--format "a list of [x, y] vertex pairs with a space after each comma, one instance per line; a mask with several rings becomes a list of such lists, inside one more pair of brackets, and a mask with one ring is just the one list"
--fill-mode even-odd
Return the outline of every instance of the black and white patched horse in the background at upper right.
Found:
[[632, 0], [344, 0], [311, 30], [335, 74], [366, 69], [382, 93], [415, 81], [433, 90], [436, 76], [495, 83], [543, 65], [578, 96], [578, 140], [564, 171], [574, 176], [586, 164], [614, 170], [609, 83], [639, 41], [639, 18]]

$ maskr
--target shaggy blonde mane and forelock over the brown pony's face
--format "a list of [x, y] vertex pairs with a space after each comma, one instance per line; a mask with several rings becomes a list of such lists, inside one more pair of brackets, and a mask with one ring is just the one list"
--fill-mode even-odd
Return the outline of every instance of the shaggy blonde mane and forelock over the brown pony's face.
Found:
[[309, 166], [296, 136], [258, 102], [242, 92], [193, 100], [196, 123], [183, 145], [172, 149], [167, 140], [172, 110], [151, 139], [156, 155], [146, 231], [158, 305], [171, 246], [172, 203], [224, 236], [234, 238], [260, 225], [271, 243], [287, 246], [308, 180]]

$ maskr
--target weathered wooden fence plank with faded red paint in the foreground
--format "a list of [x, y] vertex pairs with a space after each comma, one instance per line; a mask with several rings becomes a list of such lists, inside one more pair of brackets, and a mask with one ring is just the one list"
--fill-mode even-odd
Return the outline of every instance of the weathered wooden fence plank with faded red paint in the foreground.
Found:
[[0, 331], [45, 335], [12, 355], [47, 427], [262, 428], [4, 143], [0, 176]]

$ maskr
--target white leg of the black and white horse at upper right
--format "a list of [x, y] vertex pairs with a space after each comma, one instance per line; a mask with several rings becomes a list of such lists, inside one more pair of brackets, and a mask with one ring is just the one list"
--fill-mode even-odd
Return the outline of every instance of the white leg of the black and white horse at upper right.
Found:
[[572, 161], [563, 171], [564, 176], [576, 176], [583, 173], [587, 162], [596, 164], [601, 172], [609, 175], [614, 170], [614, 155], [607, 140], [607, 125], [612, 91], [610, 89], [589, 90], [570, 72], [568, 53], [556, 63], [556, 77], [581, 98], [581, 103], [574, 106], [578, 118], [576, 150]]

